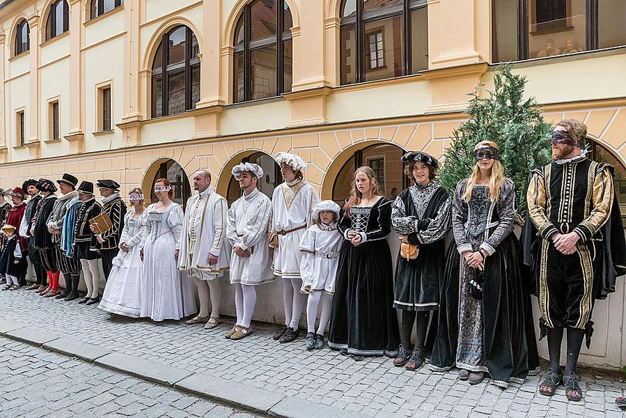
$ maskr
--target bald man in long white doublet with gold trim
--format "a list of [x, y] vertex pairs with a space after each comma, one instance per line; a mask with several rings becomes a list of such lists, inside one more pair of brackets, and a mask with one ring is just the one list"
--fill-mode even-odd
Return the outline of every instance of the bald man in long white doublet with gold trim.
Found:
[[[198, 315], [186, 324], [205, 324], [205, 330], [219, 325], [221, 288], [219, 277], [228, 270], [230, 254], [224, 249], [228, 203], [213, 191], [211, 173], [194, 173], [196, 194], [187, 200], [187, 210], [180, 234], [178, 270], [186, 270], [196, 283], [200, 299]], [[211, 313], [209, 314], [209, 299]]]

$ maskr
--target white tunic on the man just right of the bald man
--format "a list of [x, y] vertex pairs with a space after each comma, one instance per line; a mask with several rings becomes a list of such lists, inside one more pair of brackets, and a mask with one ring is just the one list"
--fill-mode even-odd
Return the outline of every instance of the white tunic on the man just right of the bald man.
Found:
[[230, 206], [226, 228], [230, 247], [238, 246], [251, 252], [249, 257], [237, 256], [234, 250], [230, 254], [230, 284], [256, 286], [274, 280], [267, 247], [270, 212], [272, 202], [258, 189], [241, 196]]

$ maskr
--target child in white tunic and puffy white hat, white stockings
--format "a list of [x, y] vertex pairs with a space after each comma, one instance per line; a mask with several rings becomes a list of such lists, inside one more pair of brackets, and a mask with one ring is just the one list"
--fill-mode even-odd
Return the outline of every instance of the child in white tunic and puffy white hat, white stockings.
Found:
[[[339, 250], [343, 237], [337, 232], [339, 206], [334, 201], [321, 201], [313, 208], [315, 224], [306, 230], [300, 240], [302, 261], [302, 293], [308, 293], [306, 304], [306, 349], [324, 348], [324, 331], [330, 319], [335, 294], [335, 279], [339, 263]], [[322, 302], [318, 332], [315, 318]]]

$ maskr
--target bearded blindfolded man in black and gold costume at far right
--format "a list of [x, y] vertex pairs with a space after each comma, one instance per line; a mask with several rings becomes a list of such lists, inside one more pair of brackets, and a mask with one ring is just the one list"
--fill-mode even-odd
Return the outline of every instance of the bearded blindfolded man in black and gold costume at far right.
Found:
[[[524, 261], [535, 273], [541, 338], [547, 336], [550, 357], [539, 392], [551, 396], [563, 380], [572, 401], [582, 397], [576, 364], [585, 336], [590, 344], [594, 300], [615, 291], [616, 277], [626, 272], [613, 167], [586, 157], [586, 134], [586, 125], [574, 119], [554, 128], [553, 162], [533, 170], [527, 195], [532, 222], [524, 231]], [[561, 374], [565, 327], [567, 364]]]

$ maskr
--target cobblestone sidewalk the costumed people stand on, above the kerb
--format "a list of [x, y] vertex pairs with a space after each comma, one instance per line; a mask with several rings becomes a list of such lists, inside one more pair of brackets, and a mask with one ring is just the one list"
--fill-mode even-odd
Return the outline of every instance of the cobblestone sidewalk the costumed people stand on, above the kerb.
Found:
[[[182, 321], [152, 323], [111, 316], [96, 305], [44, 300], [23, 289], [0, 292], [0, 306], [4, 319], [38, 330], [376, 417], [626, 418], [614, 404], [616, 396], [625, 395], [626, 384], [608, 377], [581, 376], [584, 401], [568, 403], [562, 386], [551, 398], [540, 395], [538, 376], [504, 391], [487, 380], [471, 386], [458, 381], [455, 371], [431, 373], [423, 368], [412, 373], [393, 367], [386, 357], [354, 362], [328, 349], [309, 353], [302, 339], [290, 344], [272, 340], [274, 327], [264, 324], [254, 324], [247, 338], [230, 341], [223, 336], [232, 327], [230, 318], [205, 331]], [[47, 329], [50, 324], [56, 329]], [[33, 373], [27, 370], [26, 376]], [[46, 388], [42, 385], [42, 394]]]

